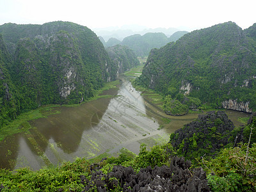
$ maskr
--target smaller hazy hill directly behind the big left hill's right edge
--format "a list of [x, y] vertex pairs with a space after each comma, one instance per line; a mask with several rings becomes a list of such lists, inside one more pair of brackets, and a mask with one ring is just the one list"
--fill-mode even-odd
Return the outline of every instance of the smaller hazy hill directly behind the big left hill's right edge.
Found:
[[118, 74], [122, 74], [132, 67], [140, 64], [140, 61], [136, 58], [134, 52], [128, 47], [122, 45], [115, 45], [113, 47], [108, 47], [107, 49], [109, 58], [113, 61], [116, 71], [116, 78]]

